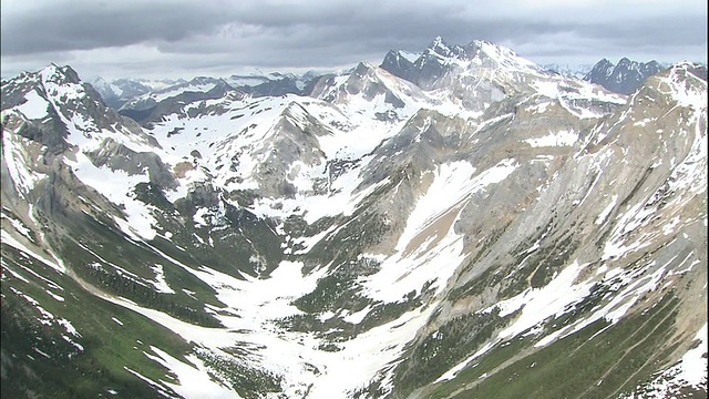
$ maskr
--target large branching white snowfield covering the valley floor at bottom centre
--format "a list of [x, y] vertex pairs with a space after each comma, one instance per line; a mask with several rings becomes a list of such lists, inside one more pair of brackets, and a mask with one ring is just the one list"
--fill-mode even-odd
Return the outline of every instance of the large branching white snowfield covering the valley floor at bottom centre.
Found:
[[[123, 298], [104, 299], [137, 311], [188, 341], [209, 348], [238, 345], [251, 352], [249, 359], [254, 367], [265, 368], [284, 377], [285, 395], [288, 397], [302, 392], [309, 386], [309, 398], [346, 397], [348, 392], [366, 385], [378, 370], [397, 361], [405, 344], [413, 338], [435, 308], [433, 304], [425, 309], [405, 313], [398, 319], [354, 339], [338, 344], [341, 348], [339, 351], [323, 351], [318, 349], [320, 341], [312, 334], [282, 331], [275, 325], [275, 320], [299, 314], [290, 301], [312, 290], [317, 279], [326, 273], [326, 268], [302, 276], [301, 264], [282, 262], [270, 278], [239, 280], [208, 267], [203, 266], [199, 270], [194, 270], [182, 266], [217, 289], [219, 300], [232, 304], [216, 315], [226, 329], [193, 326]], [[171, 358], [156, 348], [152, 349], [158, 357], [148, 357], [171, 368], [178, 376], [181, 385], [164, 382], [177, 392], [196, 395], [191, 389], [198, 386], [194, 382], [204, 382], [206, 375], [198, 375], [198, 369], [203, 366], [193, 357], [188, 359], [197, 367]], [[320, 374], [314, 374], [311, 366], [316, 366]], [[388, 380], [391, 378], [391, 375], [387, 376]], [[212, 382], [206, 385], [205, 389], [206, 392], [224, 395], [222, 397], [235, 397], [235, 393], [226, 395], [218, 387]]]

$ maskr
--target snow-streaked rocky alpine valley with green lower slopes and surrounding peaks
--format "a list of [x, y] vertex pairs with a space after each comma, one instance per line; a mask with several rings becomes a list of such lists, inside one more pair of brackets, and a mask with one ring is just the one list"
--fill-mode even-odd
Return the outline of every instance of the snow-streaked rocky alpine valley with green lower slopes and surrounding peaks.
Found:
[[2, 397], [706, 398], [706, 76], [3, 81]]

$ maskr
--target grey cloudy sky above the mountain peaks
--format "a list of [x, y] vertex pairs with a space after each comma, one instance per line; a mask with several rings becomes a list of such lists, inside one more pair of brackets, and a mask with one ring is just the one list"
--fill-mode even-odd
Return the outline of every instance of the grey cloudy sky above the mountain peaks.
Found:
[[536, 63], [707, 62], [705, 0], [2, 0], [2, 78], [83, 79], [379, 64], [389, 49], [487, 40]]

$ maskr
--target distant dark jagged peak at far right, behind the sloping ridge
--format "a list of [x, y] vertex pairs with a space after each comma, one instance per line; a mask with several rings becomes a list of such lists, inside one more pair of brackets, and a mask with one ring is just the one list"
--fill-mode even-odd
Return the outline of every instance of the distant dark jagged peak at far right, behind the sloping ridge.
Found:
[[600, 84], [612, 92], [633, 94], [649, 76], [664, 69], [657, 61], [637, 62], [623, 58], [614, 65], [607, 59], [603, 59], [584, 75], [584, 80]]

